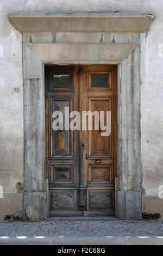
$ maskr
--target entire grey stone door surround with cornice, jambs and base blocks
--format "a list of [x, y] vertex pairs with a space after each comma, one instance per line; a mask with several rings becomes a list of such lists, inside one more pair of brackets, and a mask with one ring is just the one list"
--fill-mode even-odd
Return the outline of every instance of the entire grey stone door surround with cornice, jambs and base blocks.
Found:
[[46, 64], [118, 65], [116, 213], [141, 219], [140, 34], [153, 19], [137, 14], [9, 15], [23, 34], [24, 220], [48, 217]]

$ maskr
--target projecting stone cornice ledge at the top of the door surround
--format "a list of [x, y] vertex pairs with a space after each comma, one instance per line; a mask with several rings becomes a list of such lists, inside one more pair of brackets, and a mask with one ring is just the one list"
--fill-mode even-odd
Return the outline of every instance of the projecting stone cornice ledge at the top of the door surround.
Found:
[[[144, 32], [154, 15], [96, 14], [9, 14], [9, 20], [21, 32]], [[137, 19], [139, 18], [139, 19]]]

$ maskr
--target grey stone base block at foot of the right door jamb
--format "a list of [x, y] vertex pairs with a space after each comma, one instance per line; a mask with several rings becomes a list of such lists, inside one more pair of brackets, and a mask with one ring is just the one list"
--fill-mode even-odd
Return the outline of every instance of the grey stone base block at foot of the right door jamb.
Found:
[[141, 220], [141, 192], [118, 191], [117, 212], [122, 220]]

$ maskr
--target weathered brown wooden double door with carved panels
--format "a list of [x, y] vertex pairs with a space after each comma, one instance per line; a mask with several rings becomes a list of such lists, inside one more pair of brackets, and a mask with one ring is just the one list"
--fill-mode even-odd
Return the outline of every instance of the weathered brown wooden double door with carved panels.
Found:
[[[115, 214], [116, 76], [117, 67], [110, 65], [45, 67], [49, 216]], [[82, 114], [87, 111], [96, 111], [99, 117], [101, 111], [104, 117], [111, 113], [109, 136], [101, 136], [100, 119], [95, 130], [94, 115], [92, 130], [82, 130]], [[75, 121], [79, 114], [80, 121]], [[54, 129], [57, 118], [58, 130]], [[87, 119], [88, 115], [83, 121]]]

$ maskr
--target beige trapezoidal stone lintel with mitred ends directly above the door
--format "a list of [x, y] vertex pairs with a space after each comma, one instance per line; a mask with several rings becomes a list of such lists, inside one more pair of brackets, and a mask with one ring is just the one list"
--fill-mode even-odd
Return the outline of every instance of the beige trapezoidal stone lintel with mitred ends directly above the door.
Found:
[[[121, 61], [139, 45], [138, 43], [127, 44], [83, 44], [83, 43], [62, 43], [62, 44], [43, 44], [27, 43], [26, 46], [31, 48], [35, 55], [42, 61], [47, 62], [91, 62], [91, 61]], [[28, 55], [29, 56], [29, 55]], [[33, 56], [32, 56], [33, 57]], [[35, 59], [34, 59], [35, 60]], [[33, 61], [34, 61], [33, 60]], [[27, 71], [33, 69], [31, 61]], [[38, 63], [39, 64], [39, 63]], [[36, 67], [37, 68], [37, 67]], [[39, 66], [38, 66], [39, 68]], [[33, 70], [31, 74], [33, 76]], [[29, 72], [28, 72], [29, 74]], [[27, 77], [27, 76], [26, 76]], [[31, 77], [39, 78], [39, 77]]]

